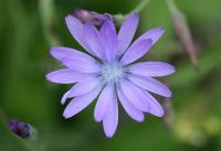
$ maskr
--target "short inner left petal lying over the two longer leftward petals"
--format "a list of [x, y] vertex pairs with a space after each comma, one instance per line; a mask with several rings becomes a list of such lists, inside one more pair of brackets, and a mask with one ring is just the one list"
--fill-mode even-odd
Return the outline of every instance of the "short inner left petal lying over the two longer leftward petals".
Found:
[[80, 73], [98, 73], [102, 69], [102, 66], [97, 62], [64, 58], [62, 63], [66, 67]]

